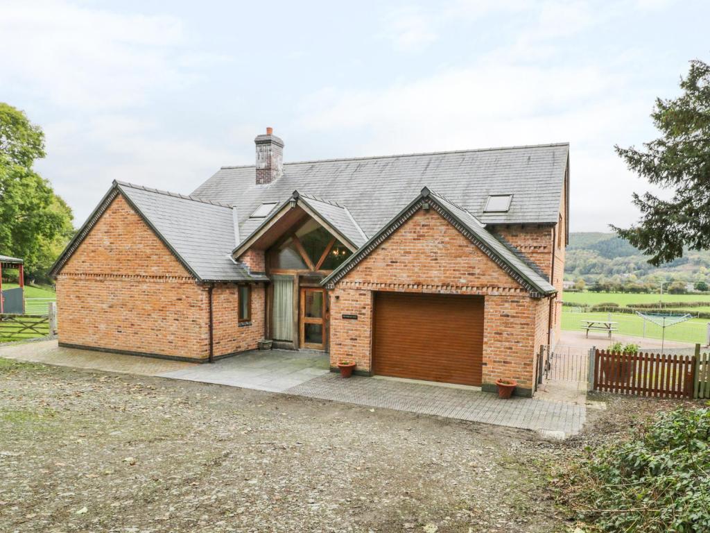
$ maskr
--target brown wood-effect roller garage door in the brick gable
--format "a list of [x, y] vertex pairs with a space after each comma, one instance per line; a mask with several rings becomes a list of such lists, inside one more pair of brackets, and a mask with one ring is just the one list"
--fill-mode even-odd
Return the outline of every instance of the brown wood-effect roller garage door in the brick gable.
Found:
[[378, 292], [373, 372], [481, 384], [484, 297]]

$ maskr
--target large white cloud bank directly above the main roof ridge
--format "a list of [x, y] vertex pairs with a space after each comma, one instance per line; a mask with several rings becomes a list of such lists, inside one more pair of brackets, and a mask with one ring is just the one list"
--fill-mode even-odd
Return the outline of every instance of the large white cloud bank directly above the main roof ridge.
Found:
[[648, 114], [648, 102], [625, 97], [629, 82], [594, 66], [485, 61], [381, 91], [324, 90], [306, 105], [302, 126], [349, 129], [366, 139], [351, 147], [363, 155], [569, 141], [573, 198], [584, 198], [572, 203], [572, 230], [603, 230], [600, 220], [635, 220], [630, 193], [646, 186], [607, 140], [623, 143], [627, 124]]

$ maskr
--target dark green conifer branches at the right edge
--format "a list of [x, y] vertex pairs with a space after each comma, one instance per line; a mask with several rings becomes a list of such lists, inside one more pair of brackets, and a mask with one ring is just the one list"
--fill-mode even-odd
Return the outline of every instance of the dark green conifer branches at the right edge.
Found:
[[613, 228], [654, 265], [682, 257], [684, 246], [710, 248], [710, 65], [691, 61], [680, 87], [677, 99], [656, 99], [651, 117], [660, 139], [644, 143], [645, 151], [615, 146], [631, 170], [674, 191], [671, 200], [634, 193], [638, 225]]

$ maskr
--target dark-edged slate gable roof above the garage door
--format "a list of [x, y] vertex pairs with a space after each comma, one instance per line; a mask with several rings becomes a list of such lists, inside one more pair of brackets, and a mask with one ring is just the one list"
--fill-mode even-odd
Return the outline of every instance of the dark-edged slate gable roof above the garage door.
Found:
[[486, 230], [484, 225], [474, 215], [444, 198], [443, 195], [433, 193], [427, 187], [422, 188], [420, 194], [414, 200], [388, 224], [384, 225], [380, 231], [368, 239], [355, 254], [351, 255], [337, 269], [332, 271], [321, 284], [332, 288], [425, 204], [434, 208], [439, 215], [442, 215], [445, 220], [450, 222], [464, 237], [476, 244], [503, 271], [506, 271], [515, 281], [518, 281], [525, 289], [528, 289], [530, 296], [541, 298], [557, 292], [555, 286], [552, 286], [545, 276], [542, 276], [523, 257], [515, 254], [506, 244]]

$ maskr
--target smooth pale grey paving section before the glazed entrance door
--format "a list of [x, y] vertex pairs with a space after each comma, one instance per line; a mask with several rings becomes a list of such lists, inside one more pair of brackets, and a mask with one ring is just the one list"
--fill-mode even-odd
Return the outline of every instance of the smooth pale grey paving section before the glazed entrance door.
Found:
[[329, 362], [323, 352], [311, 350], [254, 350], [228, 357], [213, 365], [193, 365], [189, 368], [162, 372], [160, 377], [217, 383], [269, 392], [286, 389], [329, 374]]

